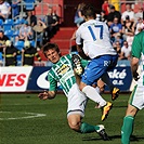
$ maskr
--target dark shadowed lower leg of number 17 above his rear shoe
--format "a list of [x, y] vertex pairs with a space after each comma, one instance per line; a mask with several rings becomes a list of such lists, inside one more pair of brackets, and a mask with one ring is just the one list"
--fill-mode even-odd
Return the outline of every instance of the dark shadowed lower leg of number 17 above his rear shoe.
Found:
[[108, 76], [107, 73], [104, 74], [101, 79], [109, 87], [110, 91], [114, 89], [114, 84], [110, 81], [109, 76]]

